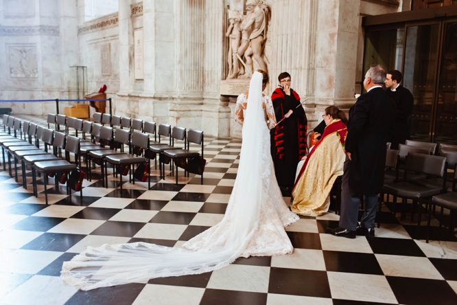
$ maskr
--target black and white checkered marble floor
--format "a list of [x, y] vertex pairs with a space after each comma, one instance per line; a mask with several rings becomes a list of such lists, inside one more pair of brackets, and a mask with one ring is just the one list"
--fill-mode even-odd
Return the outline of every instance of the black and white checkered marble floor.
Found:
[[23, 189], [0, 170], [0, 304], [457, 304], [456, 236], [433, 218], [433, 240], [426, 244], [425, 227], [418, 230], [410, 214], [395, 218], [392, 203], [383, 206], [372, 240], [325, 234], [338, 226], [339, 216], [329, 212], [286, 228], [295, 248], [288, 256], [239, 258], [210, 273], [93, 291], [65, 286], [62, 262], [87, 246], [144, 241], [181, 247], [222, 219], [241, 140], [206, 137], [204, 144], [203, 185], [200, 176], [180, 171], [176, 185], [169, 172], [163, 180], [153, 170], [149, 190], [137, 181], [125, 182], [121, 192], [112, 175], [103, 188], [96, 170], [84, 181], [82, 202], [79, 193], [51, 188], [45, 205], [43, 185], [36, 199], [31, 187]]

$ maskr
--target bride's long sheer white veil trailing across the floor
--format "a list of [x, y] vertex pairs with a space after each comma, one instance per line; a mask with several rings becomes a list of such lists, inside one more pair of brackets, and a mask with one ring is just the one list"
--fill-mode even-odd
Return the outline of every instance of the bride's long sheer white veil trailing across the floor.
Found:
[[[145, 242], [88, 247], [70, 262], [64, 262], [61, 277], [66, 284], [90, 290], [150, 278], [204, 273], [225, 267], [242, 256], [258, 231], [261, 206], [270, 200], [265, 190], [270, 186], [270, 176], [274, 177], [270, 166], [265, 166], [270, 161], [266, 158], [271, 159], [269, 150], [262, 149], [264, 142], [270, 139], [262, 136], [265, 129], [268, 133], [268, 128], [261, 87], [262, 75], [255, 72], [250, 80], [237, 178], [222, 221], [186, 242], [184, 247], [188, 249]], [[281, 204], [284, 205], [281, 208], [287, 209]], [[290, 221], [285, 222], [296, 221], [295, 215], [289, 218]], [[283, 234], [282, 238], [285, 236], [290, 245], [284, 224], [280, 225], [283, 232], [279, 234]], [[291, 249], [290, 245], [285, 253]]]

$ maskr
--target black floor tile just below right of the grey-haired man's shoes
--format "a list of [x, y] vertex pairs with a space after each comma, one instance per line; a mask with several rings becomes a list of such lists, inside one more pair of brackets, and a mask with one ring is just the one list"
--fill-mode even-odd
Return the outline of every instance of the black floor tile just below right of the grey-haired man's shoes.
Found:
[[412, 239], [375, 237], [370, 239], [369, 244], [376, 254], [425, 257], [421, 248]]

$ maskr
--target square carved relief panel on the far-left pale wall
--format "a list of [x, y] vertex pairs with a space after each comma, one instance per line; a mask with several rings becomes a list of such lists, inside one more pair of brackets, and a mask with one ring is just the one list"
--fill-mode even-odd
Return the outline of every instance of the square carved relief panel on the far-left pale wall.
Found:
[[11, 78], [37, 78], [36, 45], [8, 45]]

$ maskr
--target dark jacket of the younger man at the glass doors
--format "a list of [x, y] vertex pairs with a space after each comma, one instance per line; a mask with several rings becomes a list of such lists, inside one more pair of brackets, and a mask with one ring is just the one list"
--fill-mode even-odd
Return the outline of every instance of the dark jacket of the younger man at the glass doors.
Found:
[[410, 139], [408, 117], [412, 113], [414, 98], [411, 92], [401, 85], [395, 91], [387, 89], [386, 94], [395, 104], [395, 120], [390, 128], [387, 142], [392, 143], [390, 148], [398, 149], [398, 144], [405, 144], [405, 141]]

